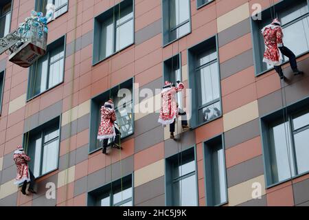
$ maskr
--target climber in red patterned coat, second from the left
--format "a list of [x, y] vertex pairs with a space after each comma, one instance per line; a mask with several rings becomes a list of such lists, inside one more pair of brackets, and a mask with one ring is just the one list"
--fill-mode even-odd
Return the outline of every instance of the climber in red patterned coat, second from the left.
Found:
[[106, 154], [106, 148], [109, 138], [115, 138], [112, 142], [112, 146], [121, 149], [120, 146], [120, 131], [116, 122], [116, 113], [114, 109], [113, 100], [108, 100], [101, 108], [101, 123], [98, 131], [98, 140], [103, 140], [102, 153]]

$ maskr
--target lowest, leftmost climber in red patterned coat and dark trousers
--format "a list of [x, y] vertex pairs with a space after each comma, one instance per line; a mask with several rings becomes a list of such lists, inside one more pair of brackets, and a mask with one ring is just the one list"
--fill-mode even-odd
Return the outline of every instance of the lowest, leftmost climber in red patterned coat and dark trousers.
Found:
[[35, 194], [36, 193], [36, 191], [34, 191], [35, 178], [28, 166], [28, 162], [30, 162], [30, 157], [25, 154], [22, 146], [18, 146], [17, 150], [14, 151], [13, 159], [17, 169], [16, 181], [14, 182], [14, 184], [16, 185], [23, 184], [23, 186], [21, 187], [21, 193], [23, 193], [23, 195], [26, 195], [25, 190], [27, 188], [27, 183], [30, 182], [28, 192], [32, 192]]

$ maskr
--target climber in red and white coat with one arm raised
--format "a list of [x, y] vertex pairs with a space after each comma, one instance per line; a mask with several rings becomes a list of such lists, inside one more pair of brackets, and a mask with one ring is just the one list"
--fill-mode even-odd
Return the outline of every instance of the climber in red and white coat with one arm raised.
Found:
[[[183, 83], [177, 81], [177, 87], [172, 85], [169, 81], [165, 81], [164, 87], [161, 91], [162, 107], [158, 122], [166, 126], [170, 124], [170, 138], [174, 139], [175, 122], [177, 115], [186, 115], [185, 111], [178, 109], [176, 102], [176, 94], [184, 89]], [[190, 129], [187, 126], [187, 120], [182, 120], [182, 127], [184, 131]]]

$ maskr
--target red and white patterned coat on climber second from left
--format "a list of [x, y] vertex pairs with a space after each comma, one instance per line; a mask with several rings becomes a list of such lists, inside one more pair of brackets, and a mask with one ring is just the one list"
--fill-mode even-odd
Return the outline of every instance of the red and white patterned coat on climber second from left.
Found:
[[106, 139], [115, 137], [116, 113], [114, 109], [102, 106], [101, 108], [101, 123], [98, 131], [98, 139]]

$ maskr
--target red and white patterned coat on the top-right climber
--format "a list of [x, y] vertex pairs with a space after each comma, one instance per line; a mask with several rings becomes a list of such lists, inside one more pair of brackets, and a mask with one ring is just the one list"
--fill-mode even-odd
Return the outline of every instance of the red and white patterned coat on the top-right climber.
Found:
[[262, 29], [266, 50], [264, 52], [263, 62], [268, 65], [278, 66], [282, 62], [282, 54], [278, 47], [282, 47], [284, 34], [279, 25], [267, 25]]

